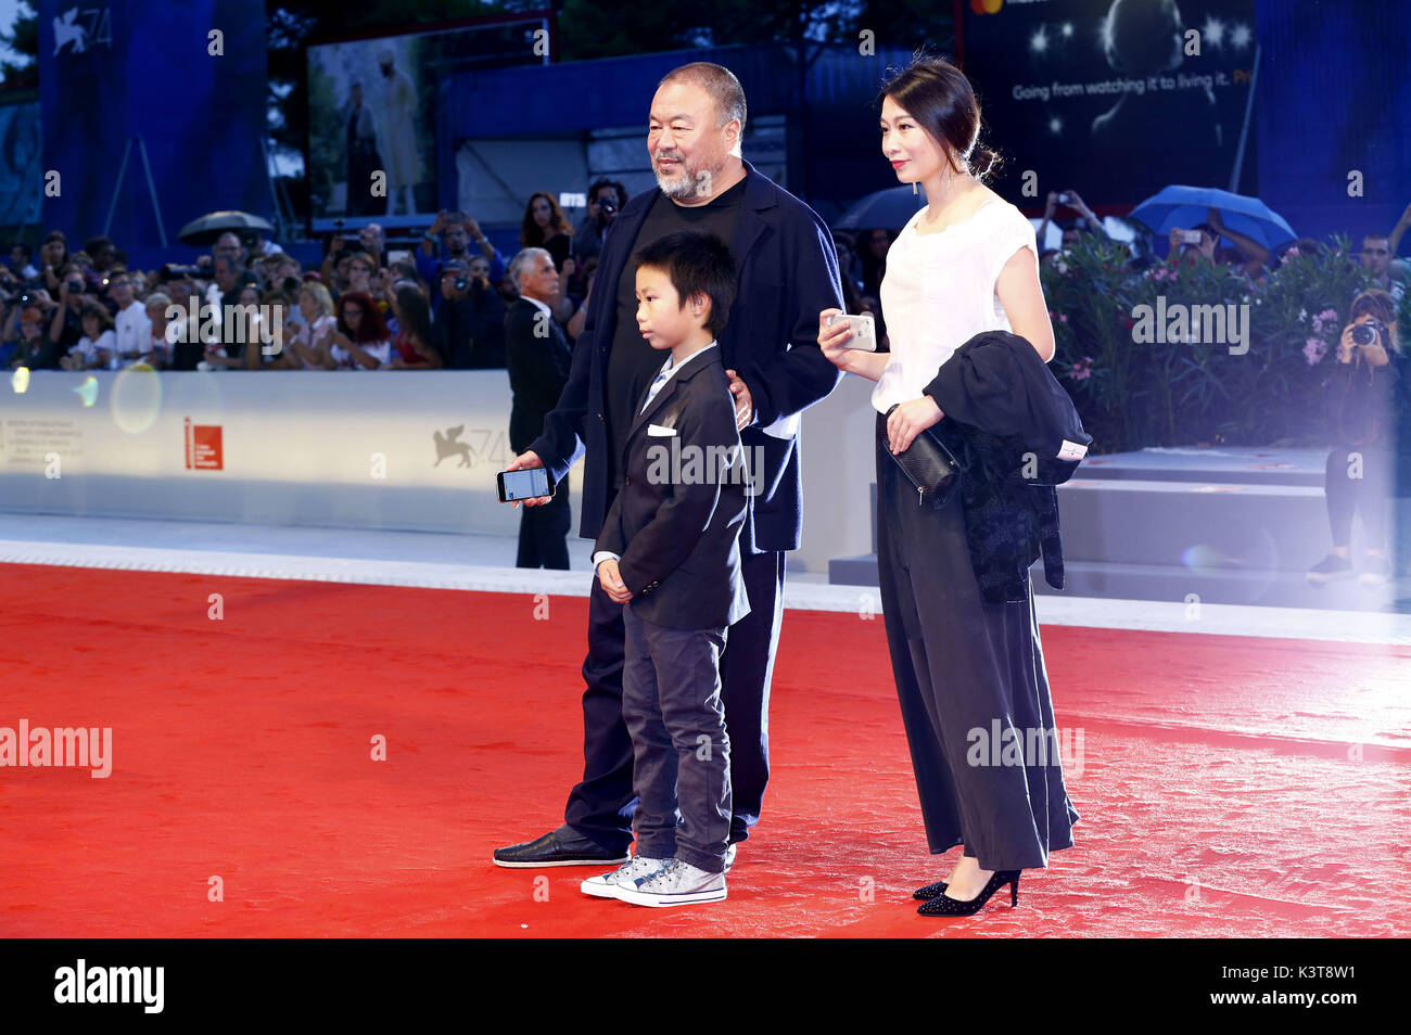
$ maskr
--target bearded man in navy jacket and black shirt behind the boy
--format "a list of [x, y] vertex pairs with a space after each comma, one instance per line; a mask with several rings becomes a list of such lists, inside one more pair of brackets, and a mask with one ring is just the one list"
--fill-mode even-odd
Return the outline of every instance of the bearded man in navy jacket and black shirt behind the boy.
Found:
[[[562, 478], [586, 451], [579, 534], [597, 539], [621, 486], [619, 457], [635, 403], [660, 367], [634, 319], [631, 254], [682, 230], [727, 241], [738, 265], [738, 295], [720, 348], [752, 478], [741, 532], [751, 612], [731, 626], [720, 666], [732, 745], [727, 860], [759, 819], [769, 780], [769, 682], [783, 618], [785, 553], [799, 549], [803, 506], [800, 415], [841, 378], [817, 338], [818, 310], [842, 305], [832, 237], [816, 212], [739, 157], [744, 125], [745, 93], [720, 65], [683, 65], [658, 85], [646, 141], [658, 188], [634, 196], [612, 223], [569, 384], [543, 434], [511, 464], [546, 467]], [[626, 859], [636, 800], [632, 743], [622, 723], [622, 609], [594, 581], [583, 664], [583, 781], [569, 797], [563, 826], [498, 849], [497, 864]]]

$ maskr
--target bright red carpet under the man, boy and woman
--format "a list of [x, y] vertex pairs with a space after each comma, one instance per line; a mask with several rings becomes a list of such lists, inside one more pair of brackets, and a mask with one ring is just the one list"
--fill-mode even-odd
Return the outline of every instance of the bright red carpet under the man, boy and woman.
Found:
[[30, 565], [0, 589], [0, 726], [113, 728], [106, 780], [0, 768], [0, 936], [1411, 933], [1405, 647], [1044, 627], [1078, 845], [1017, 910], [934, 921], [909, 895], [958, 849], [926, 852], [882, 620], [789, 612], [763, 823], [727, 902], [672, 911], [490, 863], [581, 766], [586, 599]]

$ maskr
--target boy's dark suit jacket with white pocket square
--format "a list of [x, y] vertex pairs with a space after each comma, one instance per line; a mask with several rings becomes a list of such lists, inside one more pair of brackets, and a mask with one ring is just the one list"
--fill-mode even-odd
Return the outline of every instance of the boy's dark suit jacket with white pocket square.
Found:
[[[734, 461], [724, 474], [722, 455]], [[749, 613], [739, 574], [748, 509], [741, 460], [729, 378], [714, 345], [687, 360], [636, 416], [621, 457], [622, 491], [594, 549], [621, 557], [628, 606], [639, 618], [718, 629]]]

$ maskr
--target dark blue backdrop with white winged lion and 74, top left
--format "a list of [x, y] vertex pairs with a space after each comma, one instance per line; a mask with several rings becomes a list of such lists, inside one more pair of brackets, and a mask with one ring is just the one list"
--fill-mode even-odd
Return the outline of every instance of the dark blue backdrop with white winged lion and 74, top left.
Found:
[[[63, 230], [73, 250], [103, 231], [133, 135], [147, 142], [168, 243], [213, 209], [268, 219], [261, 0], [38, 0], [37, 10], [44, 169], [61, 175], [61, 195], [44, 199], [47, 228]], [[224, 32], [220, 56], [207, 54], [213, 28]], [[119, 247], [158, 244], [135, 147], [109, 235]]]

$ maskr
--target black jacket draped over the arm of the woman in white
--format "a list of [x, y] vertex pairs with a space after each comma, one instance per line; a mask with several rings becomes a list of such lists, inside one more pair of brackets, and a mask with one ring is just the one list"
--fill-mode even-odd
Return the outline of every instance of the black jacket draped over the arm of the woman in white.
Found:
[[1062, 589], [1058, 492], [1092, 444], [1072, 399], [1034, 347], [983, 331], [941, 364], [924, 393], [941, 408], [931, 430], [964, 468], [965, 540], [981, 595], [1023, 601], [1029, 567]]

